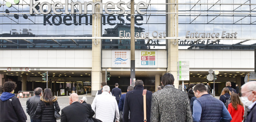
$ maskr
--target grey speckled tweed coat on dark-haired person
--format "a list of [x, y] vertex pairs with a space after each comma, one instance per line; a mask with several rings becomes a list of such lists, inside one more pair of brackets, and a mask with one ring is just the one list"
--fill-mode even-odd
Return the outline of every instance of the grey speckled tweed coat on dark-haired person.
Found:
[[153, 93], [150, 122], [192, 122], [188, 95], [173, 86]]

